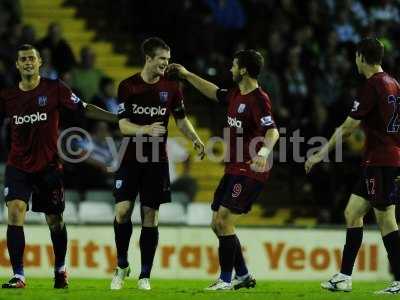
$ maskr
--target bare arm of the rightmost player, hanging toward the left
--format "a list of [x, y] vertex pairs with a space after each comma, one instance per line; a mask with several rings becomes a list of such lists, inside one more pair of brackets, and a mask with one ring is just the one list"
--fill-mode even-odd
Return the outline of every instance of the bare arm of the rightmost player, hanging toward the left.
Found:
[[329, 142], [325, 144], [321, 150], [314, 155], [310, 156], [305, 163], [305, 170], [308, 174], [311, 169], [317, 163], [321, 162], [326, 155], [336, 146], [339, 140], [347, 139], [354, 130], [360, 125], [361, 121], [347, 117], [342, 125], [335, 130], [335, 133], [329, 139]]

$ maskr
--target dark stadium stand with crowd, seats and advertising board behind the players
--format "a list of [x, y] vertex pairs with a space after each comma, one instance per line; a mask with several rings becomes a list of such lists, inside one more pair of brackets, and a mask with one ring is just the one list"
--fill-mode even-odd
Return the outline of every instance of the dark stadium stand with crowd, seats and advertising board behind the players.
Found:
[[[167, 3], [168, 2], [168, 3]], [[337, 269], [344, 242], [343, 209], [358, 177], [363, 134], [345, 145], [344, 162], [323, 164], [306, 177], [303, 164], [291, 157], [289, 137], [296, 130], [307, 140], [328, 136], [347, 115], [360, 81], [354, 45], [375, 35], [385, 45], [384, 69], [399, 78], [399, 1], [351, 0], [0, 0], [0, 88], [18, 81], [15, 49], [36, 45], [44, 60], [42, 76], [62, 78], [84, 101], [115, 111], [119, 82], [140, 70], [140, 42], [160, 36], [171, 46], [172, 61], [187, 66], [221, 86], [232, 84], [231, 57], [239, 49], [256, 48], [266, 59], [261, 86], [270, 93], [277, 123], [286, 128], [287, 162], [274, 162], [272, 177], [253, 211], [241, 222], [239, 235], [250, 267], [261, 278], [317, 279]], [[224, 109], [207, 102], [185, 85], [185, 104], [203, 140], [220, 136]], [[68, 119], [64, 120], [68, 127]], [[87, 121], [94, 147], [90, 161], [66, 164], [65, 217], [72, 246], [70, 267], [85, 277], [107, 277], [113, 261], [112, 174], [104, 138], [120, 138], [115, 127]], [[170, 137], [179, 136], [173, 121]], [[0, 135], [0, 182], [9, 146], [7, 123]], [[280, 144], [281, 148], [282, 144]], [[91, 148], [93, 149], [93, 148]], [[221, 151], [215, 147], [215, 153]], [[302, 145], [301, 153], [307, 151]], [[282, 149], [276, 149], [275, 157]], [[175, 165], [174, 202], [161, 209], [161, 240], [155, 276], [208, 278], [217, 241], [209, 223], [209, 203], [223, 165], [196, 162], [190, 147], [171, 139], [171, 158], [189, 154]], [[6, 222], [4, 201], [0, 220]], [[134, 219], [138, 222], [138, 211]], [[373, 223], [371, 216], [368, 223]], [[43, 276], [51, 266], [48, 232], [41, 216], [28, 214], [27, 272]], [[36, 224], [36, 225], [35, 225]], [[136, 228], [138, 226], [135, 226]], [[1, 226], [5, 232], [5, 226]], [[135, 234], [135, 237], [138, 235]], [[1, 235], [0, 275], [9, 272], [5, 234]], [[247, 239], [245, 238], [247, 237]], [[35, 241], [35, 242], [33, 242]], [[362, 279], [389, 278], [386, 257], [372, 227], [358, 260]], [[30, 244], [31, 243], [31, 244]], [[74, 244], [76, 243], [76, 244]], [[75, 245], [75, 247], [74, 247]], [[131, 245], [137, 261], [137, 245]], [[171, 248], [175, 247], [175, 248]], [[76, 256], [74, 256], [76, 254]], [[259, 258], [259, 259], [257, 259]], [[74, 260], [75, 259], [75, 260]], [[211, 267], [210, 267], [211, 266]], [[211, 268], [211, 269], [210, 269]], [[210, 271], [211, 270], [211, 271]], [[214, 273], [213, 273], [214, 272]], [[304, 273], [306, 272], [306, 273]]]

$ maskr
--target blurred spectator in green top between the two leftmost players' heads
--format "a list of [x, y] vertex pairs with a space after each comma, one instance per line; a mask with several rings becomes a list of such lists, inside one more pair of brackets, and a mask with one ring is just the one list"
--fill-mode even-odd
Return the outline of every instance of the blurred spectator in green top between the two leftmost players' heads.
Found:
[[96, 95], [104, 74], [95, 67], [96, 55], [90, 47], [81, 49], [79, 66], [71, 72], [71, 86], [80, 91], [83, 101], [90, 102]]

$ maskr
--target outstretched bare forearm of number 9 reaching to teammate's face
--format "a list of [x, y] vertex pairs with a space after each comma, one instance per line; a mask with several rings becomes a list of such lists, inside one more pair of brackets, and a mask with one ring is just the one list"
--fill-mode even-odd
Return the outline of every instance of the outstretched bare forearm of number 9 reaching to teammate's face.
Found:
[[196, 74], [189, 72], [184, 66], [180, 64], [170, 64], [168, 66], [170, 72], [177, 72], [178, 76], [182, 79], [189, 81], [197, 90], [209, 99], [217, 101], [217, 91], [219, 89], [214, 83], [209, 82]]

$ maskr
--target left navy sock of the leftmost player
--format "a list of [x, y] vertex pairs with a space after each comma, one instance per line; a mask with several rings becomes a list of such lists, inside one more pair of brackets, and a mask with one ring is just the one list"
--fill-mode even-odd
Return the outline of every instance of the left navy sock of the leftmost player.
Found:
[[7, 248], [14, 275], [24, 276], [25, 234], [22, 226], [7, 226]]

